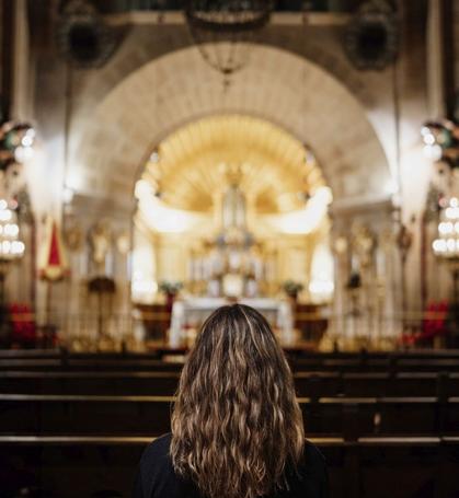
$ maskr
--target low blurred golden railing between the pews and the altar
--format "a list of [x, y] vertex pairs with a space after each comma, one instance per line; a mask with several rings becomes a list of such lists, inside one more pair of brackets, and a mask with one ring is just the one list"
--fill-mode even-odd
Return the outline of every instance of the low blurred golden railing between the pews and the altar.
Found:
[[[438, 331], [424, 337], [428, 346], [445, 346], [447, 317], [445, 313], [418, 312], [393, 314], [391, 316], [360, 314], [334, 315], [332, 313], [300, 313], [296, 316], [303, 328], [325, 322], [328, 329], [321, 343], [321, 349], [332, 350], [393, 350], [414, 347], [415, 340], [404, 340], [406, 337], [423, 339], [426, 323], [444, 323]], [[21, 324], [30, 324], [34, 337], [30, 345], [33, 347], [65, 346], [76, 351], [96, 350], [142, 350], [146, 341], [168, 345], [168, 321], [170, 314], [164, 311], [149, 312], [133, 310], [124, 313], [53, 313], [45, 323], [42, 316], [34, 313], [15, 315], [13, 323], [3, 324], [0, 335], [0, 347], [15, 341], [27, 346], [27, 339], [21, 337]], [[306, 325], [305, 325], [306, 324]], [[184, 329], [183, 344], [193, 344], [197, 326]], [[16, 332], [14, 332], [16, 327]], [[314, 343], [306, 337], [305, 329], [296, 331], [295, 338], [288, 345], [302, 349], [317, 349], [319, 339]], [[282, 337], [279, 337], [282, 340]], [[309, 341], [308, 341], [309, 340]], [[34, 344], [32, 344], [34, 343]], [[422, 343], [421, 343], [422, 344]]]

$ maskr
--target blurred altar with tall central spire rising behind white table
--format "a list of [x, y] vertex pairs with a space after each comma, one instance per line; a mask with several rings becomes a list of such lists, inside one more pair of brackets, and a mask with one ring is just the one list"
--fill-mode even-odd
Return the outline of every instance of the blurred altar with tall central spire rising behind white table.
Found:
[[[295, 341], [291, 301], [278, 296], [283, 283], [296, 280], [298, 276], [306, 283], [307, 235], [278, 236], [278, 230], [269, 224], [271, 218], [254, 223], [256, 206], [254, 196], [248, 196], [251, 176], [248, 176], [244, 161], [223, 161], [216, 175], [216, 192], [206, 208], [206, 217], [211, 212], [213, 221], [204, 218], [207, 221], [199, 224], [195, 220], [195, 230], [188, 235], [167, 242], [169, 235], [162, 234], [160, 239], [164, 241], [158, 240], [159, 256], [154, 260], [163, 263], [165, 269], [162, 271], [171, 275], [181, 268], [185, 274], [177, 280], [180, 285], [174, 286], [172, 281], [174, 292], [169, 292], [176, 296], [171, 310], [169, 346], [193, 344], [204, 321], [218, 308], [234, 302], [256, 309], [272, 325], [279, 341], [291, 346]], [[262, 206], [263, 212], [282, 215], [275, 206], [265, 202]], [[188, 236], [194, 242], [186, 246]], [[161, 244], [165, 244], [164, 252]], [[291, 252], [286, 247], [291, 247]], [[174, 264], [170, 254], [177, 255]], [[139, 275], [144, 269], [145, 265]], [[305, 287], [305, 283], [296, 283]], [[162, 281], [161, 288], [171, 288], [171, 282]], [[177, 289], [183, 289], [183, 293], [177, 293]]]

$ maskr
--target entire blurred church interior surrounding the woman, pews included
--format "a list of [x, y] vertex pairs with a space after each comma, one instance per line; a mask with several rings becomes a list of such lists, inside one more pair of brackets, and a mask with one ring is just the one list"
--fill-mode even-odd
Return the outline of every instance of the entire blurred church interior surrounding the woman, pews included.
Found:
[[333, 498], [459, 497], [459, 2], [1, 0], [0, 36], [0, 498], [130, 496], [237, 302]]

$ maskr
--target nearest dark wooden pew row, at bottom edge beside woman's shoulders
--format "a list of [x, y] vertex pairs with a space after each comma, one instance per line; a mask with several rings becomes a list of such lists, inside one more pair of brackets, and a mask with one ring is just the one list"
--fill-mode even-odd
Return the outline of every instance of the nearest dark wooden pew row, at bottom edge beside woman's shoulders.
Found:
[[[458, 438], [310, 439], [328, 461], [333, 498], [459, 496]], [[49, 498], [81, 498], [113, 489], [127, 498], [151, 440], [150, 435], [0, 436], [2, 490], [35, 485]]]

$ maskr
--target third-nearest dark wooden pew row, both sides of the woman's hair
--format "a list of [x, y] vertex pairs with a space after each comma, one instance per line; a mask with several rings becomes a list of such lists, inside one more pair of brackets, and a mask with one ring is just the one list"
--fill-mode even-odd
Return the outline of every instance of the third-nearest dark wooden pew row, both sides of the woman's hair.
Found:
[[[179, 371], [0, 371], [0, 393], [173, 395]], [[459, 373], [296, 372], [298, 396], [454, 396]]]

